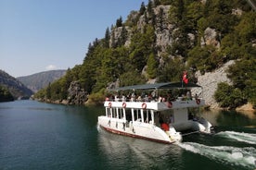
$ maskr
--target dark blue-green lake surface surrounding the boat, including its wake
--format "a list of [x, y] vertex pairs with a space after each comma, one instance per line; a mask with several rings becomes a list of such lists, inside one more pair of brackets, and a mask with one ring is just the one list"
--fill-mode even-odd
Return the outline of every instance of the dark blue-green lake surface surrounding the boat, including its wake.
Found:
[[110, 134], [104, 107], [0, 103], [0, 169], [256, 169], [256, 115], [206, 112], [214, 135], [177, 145]]

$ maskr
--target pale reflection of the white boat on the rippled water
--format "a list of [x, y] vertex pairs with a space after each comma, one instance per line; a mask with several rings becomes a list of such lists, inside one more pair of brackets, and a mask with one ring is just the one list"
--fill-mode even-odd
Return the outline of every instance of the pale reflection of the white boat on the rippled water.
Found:
[[181, 169], [183, 150], [147, 140], [111, 134], [98, 128], [99, 150], [108, 159], [109, 169]]

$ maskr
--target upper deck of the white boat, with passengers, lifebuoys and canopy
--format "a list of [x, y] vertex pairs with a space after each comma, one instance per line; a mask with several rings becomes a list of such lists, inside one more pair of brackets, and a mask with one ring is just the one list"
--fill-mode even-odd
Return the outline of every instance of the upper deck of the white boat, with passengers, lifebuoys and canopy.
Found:
[[[112, 89], [109, 91], [135, 91], [135, 90], [173, 90], [173, 89], [192, 89], [201, 88], [197, 84], [182, 82], [167, 82], [167, 83], [155, 83], [155, 84], [143, 84], [126, 86], [121, 88]], [[205, 101], [198, 96], [191, 96], [191, 93], [187, 93], [184, 96], [172, 98], [171, 96], [159, 96], [153, 97], [151, 95], [135, 96], [134, 93], [131, 96], [126, 97], [107, 97], [104, 103], [105, 107], [116, 107], [116, 108], [134, 108], [134, 109], [152, 109], [156, 111], [167, 110], [167, 109], [179, 109], [187, 107], [199, 107], [205, 105]]]

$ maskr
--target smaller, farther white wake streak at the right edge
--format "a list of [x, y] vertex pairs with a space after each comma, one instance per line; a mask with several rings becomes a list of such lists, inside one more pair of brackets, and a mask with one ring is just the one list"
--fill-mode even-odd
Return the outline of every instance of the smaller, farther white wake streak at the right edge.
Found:
[[236, 131], [222, 131], [217, 133], [216, 135], [249, 144], [256, 144], [256, 134], [241, 133]]

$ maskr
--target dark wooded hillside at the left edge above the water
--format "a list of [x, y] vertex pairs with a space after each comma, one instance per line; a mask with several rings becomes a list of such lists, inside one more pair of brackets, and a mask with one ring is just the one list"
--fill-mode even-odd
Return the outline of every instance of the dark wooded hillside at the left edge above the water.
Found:
[[[6, 88], [15, 99], [29, 99], [33, 92], [18, 79], [0, 69], [0, 86]], [[3, 98], [4, 96], [0, 96]]]

